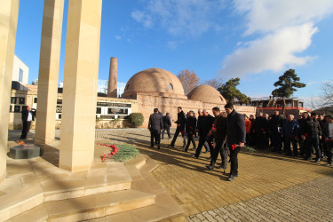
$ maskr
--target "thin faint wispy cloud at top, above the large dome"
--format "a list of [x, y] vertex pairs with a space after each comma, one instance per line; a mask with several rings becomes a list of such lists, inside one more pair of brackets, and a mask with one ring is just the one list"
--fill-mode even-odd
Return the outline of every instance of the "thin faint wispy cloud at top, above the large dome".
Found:
[[171, 36], [201, 35], [219, 25], [212, 16], [225, 8], [224, 0], [149, 0], [142, 11], [131, 17], [146, 28], [163, 28]]

